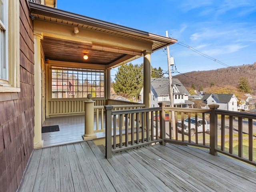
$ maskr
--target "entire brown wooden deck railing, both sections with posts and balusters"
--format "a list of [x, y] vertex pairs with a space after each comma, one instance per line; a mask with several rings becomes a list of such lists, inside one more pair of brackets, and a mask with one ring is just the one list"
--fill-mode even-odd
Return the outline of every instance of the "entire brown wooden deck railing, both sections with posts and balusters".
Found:
[[[127, 143], [128, 136], [126, 135], [126, 133], [128, 133], [129, 131], [128, 120], [135, 122], [135, 116], [141, 116], [141, 124], [137, 125], [135, 123], [132, 123], [131, 128], [134, 128], [135, 130], [137, 128], [137, 131], [141, 132], [141, 134], [143, 135], [142, 138], [145, 138], [148, 144], [151, 144], [153, 142], [160, 142], [161, 144], [165, 144], [165, 142], [170, 142], [174, 144], [186, 144], [202, 147], [209, 149], [210, 154], [212, 155], [216, 155], [218, 152], [220, 152], [222, 154], [226, 154], [228, 156], [256, 166], [256, 157], [253, 156], [253, 154], [255, 154], [255, 147], [253, 148], [253, 138], [256, 137], [256, 132], [253, 132], [253, 120], [256, 120], [256, 114], [218, 110], [218, 105], [215, 104], [209, 105], [209, 107], [210, 109], [171, 108], [166, 107], [165, 104], [160, 103], [160, 107], [157, 108], [113, 110], [113, 106], [105, 106], [105, 110], [106, 108], [108, 109], [108, 111], [106, 111], [106, 158], [110, 158], [112, 156], [112, 152], [136, 147], [136, 139], [139, 140], [138, 134], [137, 137], [134, 135], [131, 142], [128, 142], [129, 144]], [[168, 122], [165, 121], [166, 111], [169, 111], [170, 115], [171, 111], [174, 111], [176, 124], [174, 130], [172, 130], [171, 118]], [[159, 122], [157, 120], [154, 121], [154, 118], [156, 119], [158, 113], [160, 114]], [[220, 115], [221, 118], [218, 118], [218, 115]], [[112, 126], [110, 126], [110, 116], [114, 116], [114, 123], [116, 121], [116, 116], [119, 116], [121, 118], [125, 117], [126, 119], [126, 121], [124, 122], [124, 134], [126, 135], [126, 138], [124, 140], [120, 139], [120, 143], [123, 143], [120, 147], [115, 146], [115, 137], [118, 135], [114, 135], [114, 145], [112, 146]], [[200, 118], [198, 116], [200, 116]], [[188, 123], [186, 122], [187, 124], [185, 128], [184, 120], [186, 118], [188, 118]], [[191, 119], [193, 119], [194, 123], [190, 122]], [[210, 122], [210, 124], [199, 124], [199, 122], [205, 121]], [[122, 125], [121, 121], [119, 123], [120, 125]], [[148, 132], [150, 128], [151, 130], [152, 128], [154, 128], [154, 125], [156, 126], [156, 128], [160, 129], [160, 138], [159, 140], [147, 140]], [[178, 129], [178, 126], [181, 127], [181, 129]], [[138, 129], [138, 127], [140, 129]], [[193, 132], [192, 128], [194, 128]], [[200, 130], [201, 128], [202, 130]], [[180, 131], [178, 132], [178, 130]], [[121, 129], [120, 132], [122, 132]], [[130, 132], [132, 134], [135, 134], [132, 132], [132, 129], [130, 129]], [[166, 134], [167, 132], [169, 135]], [[237, 138], [236, 136], [234, 136], [234, 132], [238, 133]], [[175, 137], [172, 137], [172, 134], [174, 133]], [[145, 137], [144, 134], [146, 134]], [[192, 134], [194, 136], [192, 136]], [[245, 137], [243, 136], [243, 134], [246, 134], [247, 136]], [[111, 137], [109, 138], [109, 136]], [[245, 139], [248, 139], [248, 154], [244, 154], [243, 152], [243, 141]], [[237, 154], [236, 152], [234, 152], [234, 140], [238, 140]], [[228, 146], [225, 145], [226, 143], [228, 143]], [[142, 143], [142, 145], [145, 144], [146, 143]]]

